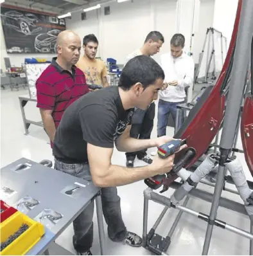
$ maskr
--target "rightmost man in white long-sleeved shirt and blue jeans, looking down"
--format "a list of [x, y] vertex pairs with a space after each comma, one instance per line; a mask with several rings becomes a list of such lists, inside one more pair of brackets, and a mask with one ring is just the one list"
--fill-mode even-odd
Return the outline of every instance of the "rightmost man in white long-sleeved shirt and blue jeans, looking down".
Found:
[[[165, 73], [164, 82], [168, 87], [159, 91], [157, 136], [166, 134], [168, 116], [171, 113], [175, 122], [177, 116], [177, 105], [186, 99], [185, 87], [189, 90], [193, 87], [194, 61], [184, 52], [184, 35], [177, 33], [170, 41], [171, 52], [161, 56], [161, 66]], [[182, 125], [182, 118], [179, 120], [179, 127]]]

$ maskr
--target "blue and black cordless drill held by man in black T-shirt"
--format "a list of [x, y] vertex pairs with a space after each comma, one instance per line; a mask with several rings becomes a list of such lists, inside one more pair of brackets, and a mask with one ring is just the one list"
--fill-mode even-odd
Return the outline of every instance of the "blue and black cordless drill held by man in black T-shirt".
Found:
[[[184, 140], [171, 140], [160, 147], [158, 147], [157, 154], [160, 158], [168, 158], [175, 152], [177, 152], [182, 145], [186, 144], [186, 139]], [[155, 175], [152, 178], [144, 179], [144, 183], [152, 189], [157, 189], [161, 187], [164, 179], [166, 179], [166, 174]]]

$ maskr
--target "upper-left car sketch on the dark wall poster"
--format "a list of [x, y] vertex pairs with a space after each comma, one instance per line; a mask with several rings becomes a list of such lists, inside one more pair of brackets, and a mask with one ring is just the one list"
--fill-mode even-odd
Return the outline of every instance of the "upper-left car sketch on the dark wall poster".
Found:
[[34, 14], [21, 14], [15, 10], [1, 14], [2, 24], [9, 26], [17, 32], [24, 33], [24, 35], [31, 35], [39, 32], [42, 28], [37, 26], [39, 19]]

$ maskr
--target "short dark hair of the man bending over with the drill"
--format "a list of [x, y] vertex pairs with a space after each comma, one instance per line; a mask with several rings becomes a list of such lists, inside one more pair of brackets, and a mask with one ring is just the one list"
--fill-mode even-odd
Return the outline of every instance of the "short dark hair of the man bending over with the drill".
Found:
[[126, 63], [119, 77], [119, 87], [127, 91], [140, 82], [146, 89], [159, 78], [164, 80], [164, 71], [161, 66], [151, 57], [139, 55]]

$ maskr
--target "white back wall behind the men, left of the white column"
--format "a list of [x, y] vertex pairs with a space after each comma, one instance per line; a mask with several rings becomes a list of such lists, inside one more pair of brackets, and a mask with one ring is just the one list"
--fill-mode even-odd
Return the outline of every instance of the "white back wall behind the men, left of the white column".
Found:
[[94, 33], [100, 42], [98, 55], [103, 59], [114, 58], [118, 64], [125, 62], [126, 55], [143, 45], [146, 35], [159, 30], [167, 42], [162, 51], [168, 51], [168, 42], [175, 33], [175, 0], [135, 0], [134, 3], [109, 3], [110, 15], [99, 10], [87, 12], [82, 21], [80, 12], [67, 19], [66, 27], [80, 35]]

